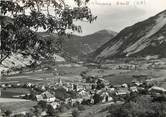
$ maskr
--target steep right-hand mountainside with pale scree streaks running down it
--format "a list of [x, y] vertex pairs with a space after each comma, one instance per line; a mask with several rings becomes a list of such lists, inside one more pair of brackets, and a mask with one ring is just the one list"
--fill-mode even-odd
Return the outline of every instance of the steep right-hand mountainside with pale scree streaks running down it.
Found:
[[166, 10], [125, 28], [92, 56], [103, 60], [148, 55], [166, 57]]

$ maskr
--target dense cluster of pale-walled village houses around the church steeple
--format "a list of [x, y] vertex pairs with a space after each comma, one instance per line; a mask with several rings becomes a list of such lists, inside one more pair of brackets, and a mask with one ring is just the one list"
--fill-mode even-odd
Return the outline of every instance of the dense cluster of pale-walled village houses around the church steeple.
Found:
[[[30, 99], [37, 102], [44, 101], [55, 110], [62, 104], [69, 104], [71, 106], [76, 104], [96, 104], [96, 95], [100, 97], [97, 103], [106, 103], [123, 101], [125, 96], [133, 93], [148, 92], [166, 94], [166, 89], [153, 85], [151, 80], [146, 80], [145, 82], [133, 80], [130, 84], [111, 85], [102, 78], [96, 78], [93, 83], [88, 83], [85, 79], [83, 79], [82, 82], [77, 83], [62, 82], [62, 80], [59, 79], [58, 83], [55, 85], [33, 83], [0, 85], [1, 88], [13, 88], [14, 86], [17, 88], [24, 87], [31, 90], [30, 94], [20, 96], [20, 98]], [[59, 89], [62, 91], [57, 93], [56, 91]], [[74, 92], [76, 95], [68, 95], [71, 94], [71, 92]], [[67, 96], [64, 96], [64, 99], [61, 99], [59, 98], [61, 93], [64, 93], [62, 97], [64, 95]]]

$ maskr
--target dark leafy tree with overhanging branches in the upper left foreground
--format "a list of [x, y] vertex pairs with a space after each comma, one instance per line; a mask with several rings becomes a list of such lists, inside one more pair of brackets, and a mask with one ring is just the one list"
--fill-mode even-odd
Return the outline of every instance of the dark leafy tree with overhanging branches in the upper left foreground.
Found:
[[61, 39], [43, 39], [38, 30], [66, 34], [66, 30], [81, 32], [76, 20], [92, 22], [96, 19], [86, 6], [89, 0], [1, 0], [1, 59], [12, 53], [26, 53], [34, 57], [52, 55], [59, 50]]

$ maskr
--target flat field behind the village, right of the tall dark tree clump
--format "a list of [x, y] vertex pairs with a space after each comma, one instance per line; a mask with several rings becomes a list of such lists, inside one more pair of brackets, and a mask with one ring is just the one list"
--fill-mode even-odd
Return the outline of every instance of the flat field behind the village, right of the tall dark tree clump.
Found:
[[146, 79], [166, 79], [166, 70], [151, 69], [151, 70], [111, 70], [111, 69], [92, 69], [88, 72], [90, 76], [103, 76], [111, 84], [130, 83], [132, 80]]

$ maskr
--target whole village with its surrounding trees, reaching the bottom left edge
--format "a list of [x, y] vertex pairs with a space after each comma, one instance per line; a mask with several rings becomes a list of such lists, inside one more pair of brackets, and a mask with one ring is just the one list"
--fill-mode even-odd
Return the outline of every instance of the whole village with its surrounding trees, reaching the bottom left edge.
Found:
[[[3, 97], [2, 92], [5, 90], [14, 89], [18, 91], [24, 89], [22, 94], [12, 95], [12, 97], [6, 96], [5, 98], [25, 99], [35, 102], [31, 109], [22, 109], [21, 111], [15, 110], [12, 112], [1, 107], [1, 116], [54, 117], [72, 110], [71, 115], [76, 117], [78, 113], [85, 110], [84, 105], [124, 103], [127, 98], [133, 95], [148, 94], [165, 99], [163, 96], [166, 94], [166, 89], [158, 86], [159, 83], [155, 79], [137, 80], [133, 78], [130, 83], [113, 85], [103, 79], [102, 76], [94, 77], [86, 74], [86, 72], [82, 72], [80, 76], [82, 79], [78, 82], [63, 81], [61, 76], [58, 76], [58, 81], [47, 83], [1, 83], [1, 97]], [[25, 92], [25, 89], [27, 92]], [[30, 111], [32, 109], [33, 111]]]

